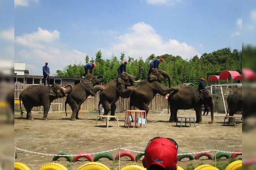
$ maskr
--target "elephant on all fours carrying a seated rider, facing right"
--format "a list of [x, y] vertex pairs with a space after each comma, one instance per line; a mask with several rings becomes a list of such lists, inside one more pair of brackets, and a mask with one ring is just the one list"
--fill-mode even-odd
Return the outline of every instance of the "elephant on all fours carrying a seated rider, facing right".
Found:
[[177, 111], [179, 109], [191, 109], [196, 111], [196, 123], [202, 123], [202, 104], [208, 104], [211, 108], [211, 121], [213, 123], [214, 99], [208, 88], [202, 91], [193, 87], [181, 87], [179, 92], [172, 92], [168, 96], [170, 105], [169, 122], [177, 122]]

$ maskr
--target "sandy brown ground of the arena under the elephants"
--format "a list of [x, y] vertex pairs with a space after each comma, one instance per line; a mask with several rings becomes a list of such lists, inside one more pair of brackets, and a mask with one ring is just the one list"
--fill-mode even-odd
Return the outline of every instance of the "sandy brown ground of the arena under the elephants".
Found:
[[[15, 113], [14, 142], [19, 149], [45, 154], [67, 152], [74, 155], [79, 152], [97, 153], [116, 149], [109, 151], [114, 158], [119, 153], [119, 147], [132, 150], [136, 156], [137, 152], [134, 151], [144, 151], [148, 141], [156, 136], [170, 137], [176, 140], [179, 145], [179, 153], [214, 150], [215, 145], [216, 149], [221, 151], [242, 150], [241, 121], [237, 121], [236, 127], [223, 125], [223, 114], [215, 113], [213, 124], [208, 124], [211, 119], [209, 113], [208, 116], [202, 116], [203, 124], [196, 123], [196, 127], [194, 124], [191, 126], [187, 124], [185, 127], [183, 123], [180, 127], [176, 126], [176, 123], [168, 122], [170, 115], [167, 114], [167, 109], [159, 109], [148, 113], [149, 123], [147, 128], [142, 129], [125, 128], [125, 113], [116, 114], [119, 119], [119, 127], [117, 127], [116, 121], [110, 121], [109, 128], [106, 128], [105, 122], [102, 121], [98, 121], [95, 126], [97, 115], [97, 113], [80, 112], [80, 120], [70, 121], [71, 112], [68, 112], [68, 117], [65, 112], [51, 113], [48, 115], [49, 120], [44, 121], [41, 120], [43, 115], [40, 113], [33, 113], [35, 120], [26, 120], [26, 114], [20, 117], [19, 113]], [[193, 110], [179, 110], [177, 115], [196, 116]], [[214, 155], [214, 151], [210, 153]], [[18, 158], [15, 159], [15, 162], [21, 162], [31, 170], [51, 163], [53, 159], [53, 156], [20, 150], [17, 150], [17, 155]], [[192, 155], [195, 156], [195, 154]], [[142, 158], [138, 162], [140, 165], [142, 165]], [[188, 161], [188, 158], [185, 158], [178, 162], [178, 165], [185, 168], [190, 163], [194, 164], [194, 167], [201, 164], [214, 165], [215, 163], [215, 160], [208, 160], [206, 157], [200, 159]], [[79, 161], [70, 163], [65, 158], [59, 158], [54, 162], [66, 166], [69, 170], [76, 170], [89, 161], [86, 158], [80, 158]], [[98, 162], [114, 170], [117, 170], [119, 166], [134, 163], [126, 156], [120, 158], [120, 165], [118, 161], [107, 158], [101, 158]]]

